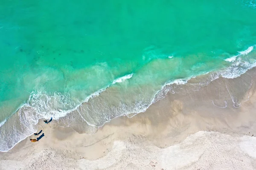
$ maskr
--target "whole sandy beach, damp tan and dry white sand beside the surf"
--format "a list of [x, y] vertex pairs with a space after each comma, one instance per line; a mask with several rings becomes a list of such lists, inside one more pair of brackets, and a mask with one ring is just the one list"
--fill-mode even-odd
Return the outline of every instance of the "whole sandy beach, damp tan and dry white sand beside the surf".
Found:
[[256, 69], [188, 90], [198, 79], [144, 113], [112, 119], [95, 134], [40, 120], [44, 136], [38, 142], [29, 136], [1, 152], [0, 170], [256, 169]]

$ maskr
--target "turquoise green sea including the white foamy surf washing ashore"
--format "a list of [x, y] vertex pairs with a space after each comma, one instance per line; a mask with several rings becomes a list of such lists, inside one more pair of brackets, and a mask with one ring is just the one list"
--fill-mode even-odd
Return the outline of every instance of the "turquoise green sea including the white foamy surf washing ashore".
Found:
[[256, 65], [255, 18], [255, 0], [1, 1], [0, 150], [83, 102], [99, 127], [166, 83], [238, 77]]

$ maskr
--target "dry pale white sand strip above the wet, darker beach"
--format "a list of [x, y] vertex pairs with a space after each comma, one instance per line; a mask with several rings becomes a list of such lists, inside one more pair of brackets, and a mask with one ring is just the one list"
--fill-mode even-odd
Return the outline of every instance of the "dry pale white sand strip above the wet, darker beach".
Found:
[[[102, 149], [107, 153], [95, 160], [71, 156], [77, 153], [82, 155], [82, 149], [69, 151], [64, 146], [61, 146], [61, 150], [51, 147], [38, 149], [37, 144], [28, 144], [26, 148], [12, 153], [9, 159], [1, 160], [0, 169], [253, 170], [256, 169], [255, 144], [256, 138], [251, 136], [234, 137], [218, 132], [199, 131], [178, 144], [159, 148], [145, 142], [140, 136], [133, 136], [130, 142], [114, 141], [109, 150]], [[99, 150], [101, 149], [94, 147], [90, 152]]]

